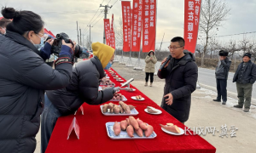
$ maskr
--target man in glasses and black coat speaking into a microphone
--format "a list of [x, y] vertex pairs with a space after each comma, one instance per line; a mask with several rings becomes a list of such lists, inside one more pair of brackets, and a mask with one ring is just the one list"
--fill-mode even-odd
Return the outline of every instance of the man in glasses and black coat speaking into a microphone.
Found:
[[184, 50], [184, 45], [183, 37], [172, 38], [168, 47], [172, 58], [157, 74], [160, 79], [166, 79], [161, 108], [183, 123], [189, 119], [191, 94], [195, 91], [198, 77], [195, 57]]

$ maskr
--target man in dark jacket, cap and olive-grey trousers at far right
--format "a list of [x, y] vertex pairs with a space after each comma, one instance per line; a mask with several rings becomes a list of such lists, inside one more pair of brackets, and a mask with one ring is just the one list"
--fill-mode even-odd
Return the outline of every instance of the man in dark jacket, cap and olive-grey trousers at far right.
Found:
[[[252, 54], [243, 55], [242, 62], [238, 65], [233, 82], [236, 82], [238, 105], [236, 108], [242, 108], [248, 112], [251, 106], [253, 83], [256, 81], [256, 65], [251, 61]], [[245, 99], [245, 101], [244, 101]]]

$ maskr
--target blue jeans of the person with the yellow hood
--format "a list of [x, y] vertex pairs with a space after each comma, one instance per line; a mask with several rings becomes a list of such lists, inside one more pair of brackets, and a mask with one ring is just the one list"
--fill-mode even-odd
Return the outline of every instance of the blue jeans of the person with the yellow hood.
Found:
[[50, 135], [55, 127], [60, 111], [55, 108], [44, 94], [44, 111], [41, 115], [41, 153], [44, 153], [49, 143]]

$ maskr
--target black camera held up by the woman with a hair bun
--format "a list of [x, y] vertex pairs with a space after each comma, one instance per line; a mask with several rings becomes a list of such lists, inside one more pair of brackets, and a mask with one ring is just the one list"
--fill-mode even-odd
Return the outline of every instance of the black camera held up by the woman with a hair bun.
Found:
[[[61, 46], [62, 46], [62, 40], [64, 40], [66, 43], [72, 43], [72, 40], [69, 39], [69, 37], [67, 36], [66, 33], [61, 32], [59, 34], [56, 35], [56, 38], [52, 44], [51, 47], [51, 53], [55, 54], [56, 56], [59, 56], [60, 52], [61, 52]], [[80, 56], [80, 54], [82, 54], [83, 52], [83, 47], [76, 45], [75, 49], [74, 49], [74, 56], [78, 57]]]

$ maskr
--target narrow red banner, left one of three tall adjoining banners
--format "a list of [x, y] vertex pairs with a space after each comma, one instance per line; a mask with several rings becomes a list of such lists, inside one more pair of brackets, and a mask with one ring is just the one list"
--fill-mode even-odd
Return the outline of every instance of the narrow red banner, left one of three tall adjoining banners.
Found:
[[123, 14], [123, 51], [130, 52], [131, 50], [131, 2], [122, 1]]

